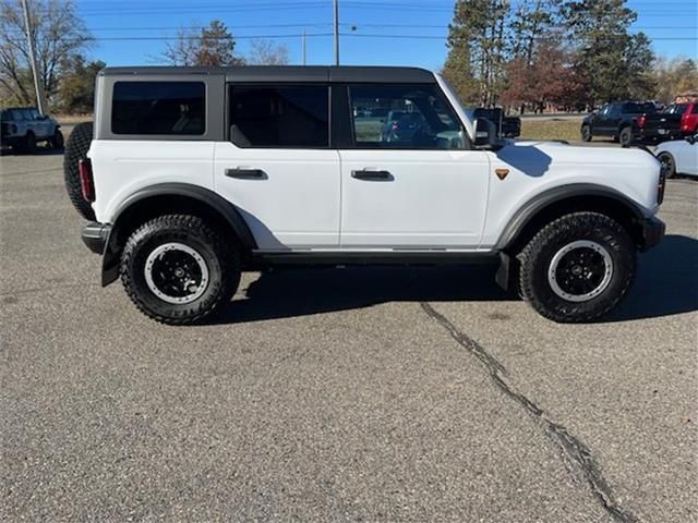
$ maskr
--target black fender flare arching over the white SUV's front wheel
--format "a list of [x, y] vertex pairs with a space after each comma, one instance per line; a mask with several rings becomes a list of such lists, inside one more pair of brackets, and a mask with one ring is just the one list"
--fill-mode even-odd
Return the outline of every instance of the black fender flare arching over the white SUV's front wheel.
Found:
[[626, 195], [616, 191], [615, 188], [606, 187], [603, 185], [597, 185], [593, 183], [573, 183], [569, 185], [561, 185], [543, 193], [533, 196], [526, 204], [524, 204], [519, 210], [509, 219], [508, 223], [500, 234], [495, 248], [497, 251], [505, 251], [509, 247], [519, 236], [519, 234], [526, 229], [526, 226], [544, 208], [562, 202], [564, 199], [575, 198], [583, 196], [602, 196], [605, 198], [614, 199], [618, 204], [623, 205], [629, 210], [636, 220], [642, 221], [645, 215], [638, 207], [638, 205], [628, 198]]

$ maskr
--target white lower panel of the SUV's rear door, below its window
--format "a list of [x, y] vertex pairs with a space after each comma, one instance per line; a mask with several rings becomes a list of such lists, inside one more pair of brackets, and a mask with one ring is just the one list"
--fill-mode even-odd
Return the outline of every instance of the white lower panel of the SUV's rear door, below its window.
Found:
[[[215, 146], [215, 188], [246, 221], [260, 250], [339, 246], [339, 155], [329, 149]], [[262, 169], [261, 180], [226, 169]]]

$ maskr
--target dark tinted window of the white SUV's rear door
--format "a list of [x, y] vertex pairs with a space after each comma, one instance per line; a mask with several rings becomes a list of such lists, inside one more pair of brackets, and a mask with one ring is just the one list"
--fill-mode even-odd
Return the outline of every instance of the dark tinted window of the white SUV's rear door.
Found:
[[229, 110], [239, 147], [329, 147], [327, 85], [233, 85]]

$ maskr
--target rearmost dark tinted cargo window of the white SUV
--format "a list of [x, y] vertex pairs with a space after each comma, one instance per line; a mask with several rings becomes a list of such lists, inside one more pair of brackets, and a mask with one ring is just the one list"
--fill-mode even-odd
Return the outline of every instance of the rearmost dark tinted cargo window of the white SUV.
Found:
[[203, 82], [117, 82], [111, 132], [134, 135], [202, 135], [206, 132]]

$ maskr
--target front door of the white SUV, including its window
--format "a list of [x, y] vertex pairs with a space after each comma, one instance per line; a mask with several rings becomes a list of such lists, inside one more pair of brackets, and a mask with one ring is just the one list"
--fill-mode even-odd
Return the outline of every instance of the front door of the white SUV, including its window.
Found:
[[341, 159], [342, 247], [473, 250], [490, 160], [471, 150], [436, 85], [350, 85]]

